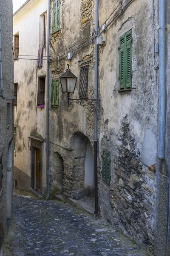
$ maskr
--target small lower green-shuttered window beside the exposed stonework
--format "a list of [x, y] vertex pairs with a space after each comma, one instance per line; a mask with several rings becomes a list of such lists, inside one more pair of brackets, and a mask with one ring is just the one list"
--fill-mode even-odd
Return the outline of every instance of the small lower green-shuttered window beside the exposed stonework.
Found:
[[103, 148], [102, 152], [102, 179], [110, 186], [111, 180], [111, 153]]

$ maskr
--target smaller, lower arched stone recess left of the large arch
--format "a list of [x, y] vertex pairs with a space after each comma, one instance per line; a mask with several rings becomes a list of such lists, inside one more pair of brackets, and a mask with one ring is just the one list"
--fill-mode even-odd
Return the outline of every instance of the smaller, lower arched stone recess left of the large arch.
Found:
[[54, 152], [50, 161], [50, 193], [63, 193], [63, 172], [64, 164], [62, 156], [58, 152]]

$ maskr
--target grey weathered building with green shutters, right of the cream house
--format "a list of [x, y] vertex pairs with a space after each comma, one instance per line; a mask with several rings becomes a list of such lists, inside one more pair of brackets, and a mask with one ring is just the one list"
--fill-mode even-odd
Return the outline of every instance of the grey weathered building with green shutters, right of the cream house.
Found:
[[[51, 0], [50, 189], [68, 197], [79, 188], [94, 188], [94, 113], [67, 104], [59, 77], [69, 64], [78, 78], [71, 97], [94, 98], [95, 2]], [[168, 225], [169, 170], [162, 171], [157, 150], [160, 81], [153, 36], [159, 43], [159, 2], [99, 0], [97, 39], [99, 211], [146, 245], [149, 255], [155, 237], [155, 255], [165, 255]], [[169, 25], [166, 33], [168, 41]], [[166, 157], [168, 152], [167, 145]]]

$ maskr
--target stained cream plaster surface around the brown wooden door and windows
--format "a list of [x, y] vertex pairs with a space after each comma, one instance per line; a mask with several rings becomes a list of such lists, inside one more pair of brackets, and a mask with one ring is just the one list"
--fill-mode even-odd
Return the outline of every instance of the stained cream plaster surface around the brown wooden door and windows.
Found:
[[[24, 6], [23, 8], [26, 8]], [[14, 35], [19, 32], [20, 55], [37, 56], [40, 44], [40, 15], [47, 10], [47, 0], [40, 0], [14, 23]], [[20, 12], [20, 11], [19, 11]], [[18, 14], [17, 14], [18, 15]], [[46, 56], [46, 47], [43, 56]], [[20, 56], [20, 58], [22, 58]], [[35, 58], [26, 57], [23, 58]], [[42, 187], [46, 187], [46, 105], [37, 107], [38, 77], [46, 76], [46, 61], [41, 69], [37, 68], [37, 60], [14, 61], [14, 82], [18, 83], [17, 107], [14, 107], [14, 126], [16, 126], [16, 154], [14, 156], [14, 179], [18, 188], [26, 190], [31, 184], [31, 140], [35, 137], [42, 143]], [[46, 103], [46, 81], [45, 81]], [[25, 178], [26, 177], [26, 178]]]

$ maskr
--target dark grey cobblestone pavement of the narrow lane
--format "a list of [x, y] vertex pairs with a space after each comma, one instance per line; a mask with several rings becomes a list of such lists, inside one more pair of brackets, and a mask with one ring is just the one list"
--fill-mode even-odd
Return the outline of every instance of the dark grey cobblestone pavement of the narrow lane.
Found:
[[119, 231], [69, 204], [14, 195], [14, 256], [146, 256]]

